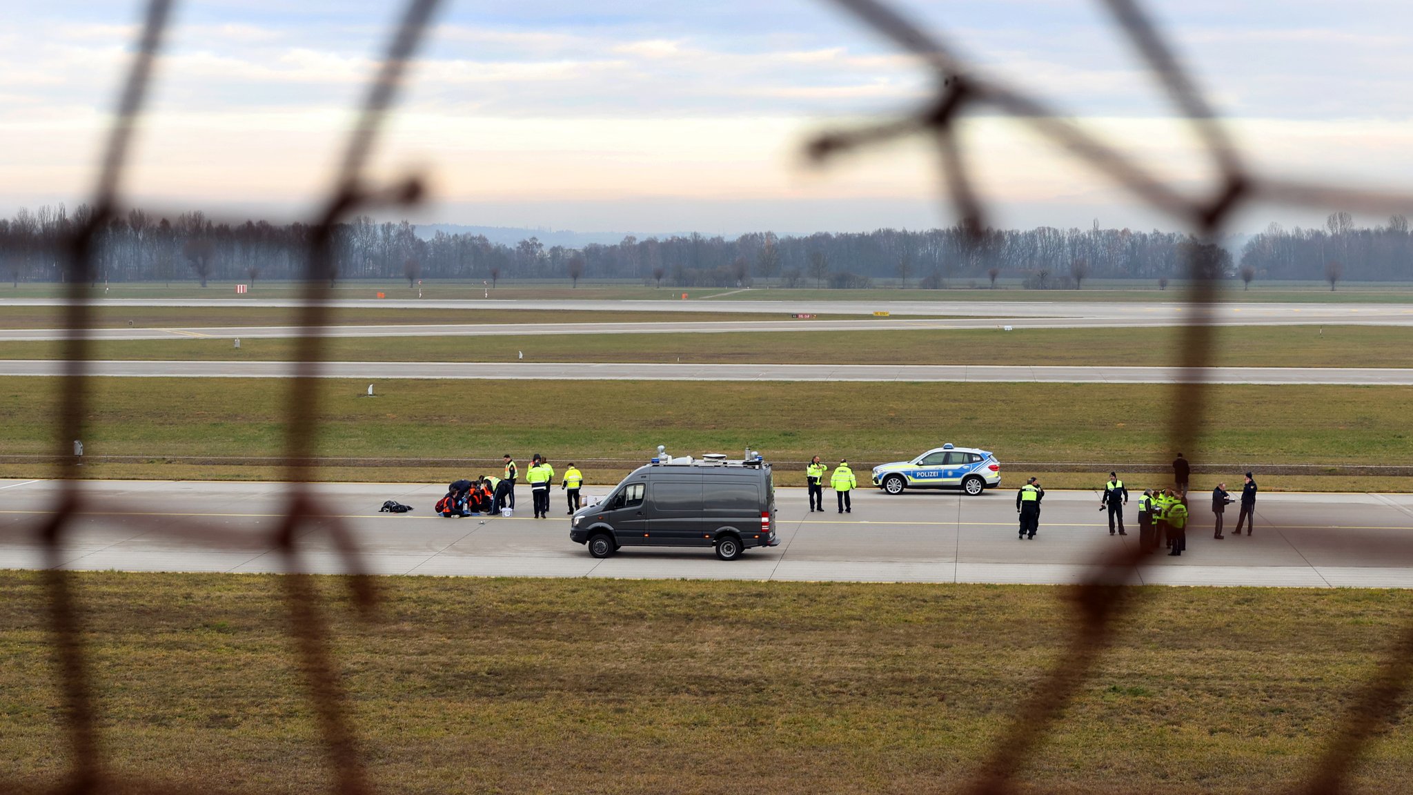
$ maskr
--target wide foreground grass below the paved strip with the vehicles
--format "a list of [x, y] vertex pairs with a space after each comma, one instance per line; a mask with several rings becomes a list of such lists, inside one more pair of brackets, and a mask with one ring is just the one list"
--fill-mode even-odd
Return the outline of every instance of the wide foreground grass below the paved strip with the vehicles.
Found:
[[[42, 574], [0, 573], [0, 785], [64, 781]], [[276, 576], [73, 574], [105, 768], [165, 791], [329, 785]], [[1036, 586], [318, 577], [380, 792], [957, 791], [1061, 656]], [[1413, 593], [1137, 588], [1023, 792], [1293, 791]], [[1413, 729], [1349, 792], [1413, 788]], [[134, 789], [136, 791], [136, 789]]]

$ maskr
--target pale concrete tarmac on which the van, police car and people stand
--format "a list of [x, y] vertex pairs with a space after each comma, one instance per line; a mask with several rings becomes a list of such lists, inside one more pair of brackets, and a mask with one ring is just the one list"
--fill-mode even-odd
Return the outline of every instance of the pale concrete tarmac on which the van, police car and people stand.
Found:
[[[48, 566], [35, 533], [58, 488], [52, 481], [0, 481], [0, 567]], [[442, 485], [321, 484], [315, 488], [332, 518], [302, 528], [291, 567], [271, 538], [288, 498], [284, 484], [92, 481], [83, 488], [90, 502], [65, 535], [58, 557], [64, 569], [342, 573], [345, 560], [326, 532], [335, 521], [348, 528], [370, 573], [478, 577], [1065, 584], [1095, 576], [1101, 555], [1137, 542], [1132, 526], [1128, 536], [1108, 533], [1092, 492], [1047, 494], [1040, 533], [1019, 540], [1009, 488], [975, 498], [861, 489], [853, 511], [842, 515], [810, 513], [803, 489], [777, 489], [777, 547], [755, 549], [729, 563], [709, 549], [649, 547], [625, 547], [598, 560], [568, 540], [564, 516], [442, 519], [431, 515]], [[592, 495], [608, 491], [585, 488]], [[521, 488], [520, 498], [528, 501], [528, 491]], [[377, 513], [384, 499], [415, 511]], [[1212, 539], [1204, 501], [1204, 494], [1193, 495], [1186, 555], [1154, 555], [1140, 569], [1122, 570], [1121, 580], [1413, 587], [1413, 495], [1262, 494], [1255, 535], [1231, 535], [1232, 506], [1224, 540]], [[557, 511], [562, 505], [560, 491], [552, 505]], [[192, 540], [196, 532], [206, 540]]]

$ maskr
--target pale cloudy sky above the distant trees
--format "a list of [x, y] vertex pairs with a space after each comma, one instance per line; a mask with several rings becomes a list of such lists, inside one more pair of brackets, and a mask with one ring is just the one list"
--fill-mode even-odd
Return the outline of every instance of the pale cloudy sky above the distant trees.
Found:
[[[978, 74], [1044, 98], [1187, 191], [1211, 190], [1188, 129], [1101, 4], [900, 7]], [[1258, 173], [1413, 182], [1413, 4], [1147, 7]], [[73, 207], [92, 191], [140, 13], [4, 0], [0, 214]], [[178, 3], [124, 201], [233, 219], [309, 215], [397, 13], [363, 0]], [[827, 0], [447, 3], [421, 55], [372, 168], [427, 178], [418, 221], [726, 235], [955, 222], [926, 140], [822, 168], [803, 157], [811, 136], [920, 108], [935, 85]], [[1183, 228], [1023, 122], [976, 108], [961, 132], [996, 225]], [[1334, 209], [1255, 207], [1232, 231], [1318, 225]]]

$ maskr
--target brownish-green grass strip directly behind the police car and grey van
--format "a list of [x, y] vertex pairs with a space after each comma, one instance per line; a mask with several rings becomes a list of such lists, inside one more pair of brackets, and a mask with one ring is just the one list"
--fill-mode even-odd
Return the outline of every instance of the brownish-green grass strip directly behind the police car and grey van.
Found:
[[[99, 378], [92, 385], [88, 454], [151, 457], [141, 477], [168, 477], [164, 455], [283, 451], [284, 381]], [[321, 385], [322, 455], [495, 458], [513, 451], [561, 463], [640, 461], [658, 444], [678, 454], [752, 444], [774, 461], [820, 454], [848, 457], [859, 468], [952, 441], [993, 450], [1003, 464], [1092, 461], [1102, 463], [1099, 472], [1109, 463], [1173, 457], [1166, 441], [1171, 389], [1154, 385], [379, 381], [380, 396], [372, 399], [360, 396], [366, 381]], [[0, 414], [0, 454], [55, 450], [49, 433], [59, 386], [51, 378], [0, 379], [0, 400], [10, 407]], [[1205, 434], [1186, 451], [1197, 463], [1413, 464], [1413, 388], [1232, 385], [1211, 388], [1211, 399]], [[48, 474], [27, 464], [0, 471]], [[586, 474], [591, 482], [616, 482]], [[396, 480], [442, 478], [414, 468]]]

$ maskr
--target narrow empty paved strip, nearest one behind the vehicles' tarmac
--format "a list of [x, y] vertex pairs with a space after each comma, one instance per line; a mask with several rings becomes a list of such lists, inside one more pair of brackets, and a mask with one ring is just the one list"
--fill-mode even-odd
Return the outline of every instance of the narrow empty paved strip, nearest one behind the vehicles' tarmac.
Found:
[[[64, 375], [58, 359], [4, 359], [0, 376]], [[290, 378], [294, 362], [93, 361], [116, 378]], [[1002, 365], [714, 365], [574, 362], [324, 362], [319, 378], [359, 381], [788, 381], [971, 383], [1265, 383], [1413, 386], [1413, 368], [1139, 368]]]

